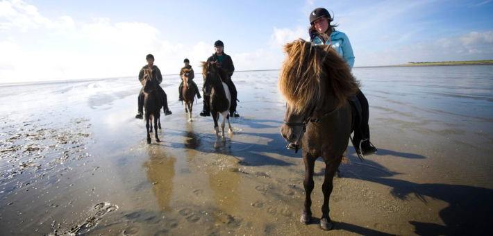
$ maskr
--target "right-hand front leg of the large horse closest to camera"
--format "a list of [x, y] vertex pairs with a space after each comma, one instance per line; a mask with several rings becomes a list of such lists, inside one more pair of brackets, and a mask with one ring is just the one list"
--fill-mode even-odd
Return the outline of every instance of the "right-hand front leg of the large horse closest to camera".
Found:
[[325, 162], [325, 179], [324, 184], [321, 185], [321, 191], [324, 193], [324, 205], [321, 206], [321, 219], [320, 228], [323, 230], [331, 230], [332, 221], [331, 217], [328, 217], [328, 200], [331, 199], [333, 185], [333, 179], [337, 167], [339, 167], [341, 158], [331, 158]]

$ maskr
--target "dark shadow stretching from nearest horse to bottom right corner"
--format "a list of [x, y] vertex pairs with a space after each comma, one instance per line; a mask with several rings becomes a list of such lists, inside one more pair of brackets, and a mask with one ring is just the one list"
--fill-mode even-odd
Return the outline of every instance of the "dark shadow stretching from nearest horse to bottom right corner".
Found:
[[[352, 158], [356, 159], [354, 156]], [[426, 205], [431, 204], [428, 200], [430, 198], [449, 203], [446, 208], [438, 212], [445, 226], [409, 221], [415, 226], [417, 235], [479, 235], [490, 231], [489, 226], [493, 222], [493, 189], [467, 185], [412, 183], [389, 178], [399, 173], [388, 171], [371, 160], [365, 160], [363, 164], [353, 163], [351, 167], [342, 166], [343, 178], [355, 178], [386, 185], [391, 188], [390, 194], [401, 201], [410, 201], [412, 196], [415, 196]]]

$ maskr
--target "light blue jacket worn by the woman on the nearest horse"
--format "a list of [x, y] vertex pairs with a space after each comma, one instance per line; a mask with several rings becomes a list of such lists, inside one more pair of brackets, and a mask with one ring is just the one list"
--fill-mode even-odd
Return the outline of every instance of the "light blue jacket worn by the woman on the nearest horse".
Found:
[[[353, 47], [351, 47], [351, 42], [349, 42], [349, 38], [345, 33], [340, 31], [334, 31], [329, 36], [332, 40], [332, 47], [339, 53], [339, 55], [344, 59], [345, 62], [353, 69], [354, 65], [354, 53]], [[312, 37], [312, 43], [315, 45], [324, 44], [324, 42], [320, 39], [318, 35]], [[330, 44], [331, 42], [327, 40], [325, 44]]]

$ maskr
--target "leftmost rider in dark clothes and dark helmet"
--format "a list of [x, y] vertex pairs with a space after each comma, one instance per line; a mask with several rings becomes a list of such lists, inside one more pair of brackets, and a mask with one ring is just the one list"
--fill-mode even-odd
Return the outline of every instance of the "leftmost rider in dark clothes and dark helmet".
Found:
[[[159, 83], [161, 83], [162, 82], [161, 71], [159, 70], [158, 67], [154, 65], [154, 56], [152, 56], [152, 54], [148, 54], [146, 56], [146, 60], [147, 60], [147, 65], [144, 65], [144, 67], [142, 67], [142, 69], [140, 69], [139, 72], [140, 83], [143, 82], [142, 78], [144, 77], [144, 69], [147, 69], [149, 67], [152, 67], [153, 71], [156, 71], [154, 72], [156, 73], [156, 78], [158, 78]], [[144, 83], [142, 83], [142, 85], [143, 84]], [[168, 100], [166, 97], [165, 90], [162, 90], [161, 86], [158, 86], [158, 94], [161, 97], [163, 112], [165, 113], [165, 115], [172, 115], [173, 113], [168, 109]], [[135, 118], [142, 119], [142, 114], [144, 113], [144, 87], [142, 87], [142, 89], [139, 92], [138, 104], [139, 104], [139, 110], [137, 112], [137, 115], [135, 115]]]

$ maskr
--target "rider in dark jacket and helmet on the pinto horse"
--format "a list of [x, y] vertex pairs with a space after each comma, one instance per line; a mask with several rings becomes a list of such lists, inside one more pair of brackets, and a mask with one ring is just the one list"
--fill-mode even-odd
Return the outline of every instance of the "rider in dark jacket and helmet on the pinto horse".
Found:
[[[226, 83], [229, 88], [229, 92], [231, 93], [231, 106], [229, 108], [229, 116], [230, 117], [240, 117], [238, 112], [236, 112], [236, 99], [237, 99], [237, 91], [235, 84], [231, 80], [231, 76], [233, 76], [233, 72], [235, 71], [235, 66], [233, 65], [233, 60], [231, 60], [231, 56], [226, 55], [224, 53], [224, 44], [221, 40], [217, 40], [214, 43], [214, 49], [215, 53], [210, 56], [210, 58], [207, 59], [208, 62], [214, 62], [217, 61], [217, 65], [221, 67], [222, 69], [225, 69], [228, 72], [229, 76], [229, 82]], [[206, 96], [205, 94], [203, 95], [203, 110], [200, 112], [200, 115], [203, 117], [208, 117], [210, 116], [210, 108], [209, 108], [209, 100], [210, 96]]]

